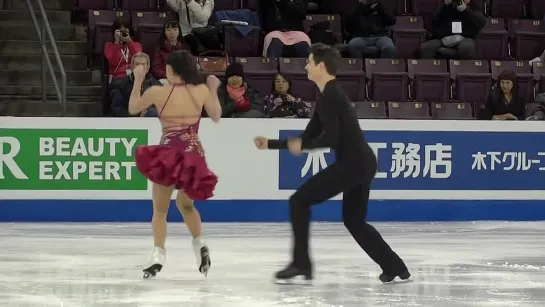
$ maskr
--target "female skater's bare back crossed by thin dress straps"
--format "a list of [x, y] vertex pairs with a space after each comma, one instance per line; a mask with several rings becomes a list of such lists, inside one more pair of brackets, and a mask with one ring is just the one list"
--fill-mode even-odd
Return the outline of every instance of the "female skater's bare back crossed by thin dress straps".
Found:
[[196, 124], [210, 92], [204, 84], [162, 86], [155, 96], [153, 104], [159, 111], [159, 121], [163, 130], [170, 130]]

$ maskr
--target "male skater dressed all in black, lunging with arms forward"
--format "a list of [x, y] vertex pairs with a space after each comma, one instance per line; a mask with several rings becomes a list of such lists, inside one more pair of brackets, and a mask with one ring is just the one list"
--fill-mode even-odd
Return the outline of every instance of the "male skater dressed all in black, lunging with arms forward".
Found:
[[341, 60], [339, 51], [324, 44], [311, 46], [306, 70], [320, 95], [316, 110], [300, 137], [288, 140], [254, 139], [258, 149], [288, 149], [299, 155], [303, 149], [330, 147], [336, 162], [311, 177], [290, 197], [293, 229], [293, 260], [275, 277], [290, 280], [313, 278], [308, 252], [310, 207], [343, 194], [343, 221], [352, 237], [382, 269], [379, 279], [392, 282], [411, 275], [401, 258], [388, 246], [379, 232], [365, 222], [371, 181], [377, 171], [377, 159], [361, 131], [354, 108], [337, 84], [335, 75]]

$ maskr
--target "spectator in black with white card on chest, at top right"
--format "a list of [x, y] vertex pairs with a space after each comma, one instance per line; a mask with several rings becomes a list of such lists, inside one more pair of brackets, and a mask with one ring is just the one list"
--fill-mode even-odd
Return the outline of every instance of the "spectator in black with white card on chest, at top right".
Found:
[[433, 21], [433, 39], [422, 43], [420, 57], [433, 59], [439, 51], [447, 58], [454, 56], [461, 60], [475, 59], [475, 38], [486, 23], [481, 9], [471, 0], [444, 2]]

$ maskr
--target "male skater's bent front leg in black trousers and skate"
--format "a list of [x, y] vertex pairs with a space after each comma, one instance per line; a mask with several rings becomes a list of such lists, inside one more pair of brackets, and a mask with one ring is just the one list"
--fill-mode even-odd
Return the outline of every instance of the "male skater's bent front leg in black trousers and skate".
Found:
[[311, 177], [290, 197], [290, 219], [293, 230], [293, 262], [278, 272], [279, 279], [299, 275], [312, 278], [312, 265], [308, 252], [310, 207], [324, 202], [342, 192], [344, 187], [341, 166], [337, 163]]

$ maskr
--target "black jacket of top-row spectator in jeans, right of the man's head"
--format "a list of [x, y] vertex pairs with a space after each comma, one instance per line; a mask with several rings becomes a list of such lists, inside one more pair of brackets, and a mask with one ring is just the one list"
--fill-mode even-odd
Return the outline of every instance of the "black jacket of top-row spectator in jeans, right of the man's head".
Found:
[[348, 20], [351, 37], [371, 37], [388, 35], [389, 26], [396, 23], [396, 17], [384, 9], [382, 3], [358, 3]]

